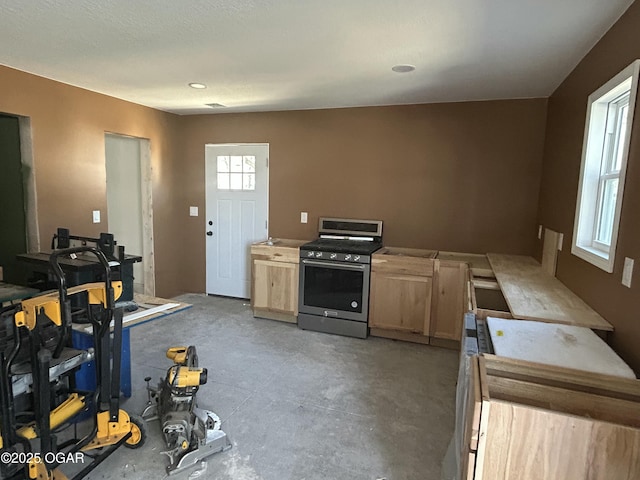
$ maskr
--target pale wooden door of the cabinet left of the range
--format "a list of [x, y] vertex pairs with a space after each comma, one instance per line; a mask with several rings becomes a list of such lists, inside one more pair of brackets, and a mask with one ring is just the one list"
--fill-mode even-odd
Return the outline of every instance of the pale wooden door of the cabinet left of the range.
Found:
[[298, 265], [253, 261], [253, 308], [298, 314]]

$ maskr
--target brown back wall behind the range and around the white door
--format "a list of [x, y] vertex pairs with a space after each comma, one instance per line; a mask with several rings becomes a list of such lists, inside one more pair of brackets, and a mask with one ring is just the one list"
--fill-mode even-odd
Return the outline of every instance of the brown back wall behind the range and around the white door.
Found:
[[373, 218], [387, 245], [533, 254], [545, 116], [534, 99], [182, 117], [183, 287], [204, 291], [204, 221], [188, 206], [204, 212], [206, 143], [269, 143], [273, 237]]

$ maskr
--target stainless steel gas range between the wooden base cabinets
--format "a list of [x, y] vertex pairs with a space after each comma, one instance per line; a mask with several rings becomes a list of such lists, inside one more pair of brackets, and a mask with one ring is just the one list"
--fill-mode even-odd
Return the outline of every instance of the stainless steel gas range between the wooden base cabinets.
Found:
[[300, 247], [298, 326], [366, 338], [371, 254], [382, 221], [320, 218], [319, 238]]

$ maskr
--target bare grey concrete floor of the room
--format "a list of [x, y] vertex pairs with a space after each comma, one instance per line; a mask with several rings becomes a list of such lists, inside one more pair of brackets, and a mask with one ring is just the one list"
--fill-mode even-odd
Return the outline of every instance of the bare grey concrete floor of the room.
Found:
[[[254, 319], [247, 301], [184, 295], [192, 308], [131, 330], [133, 396], [156, 384], [170, 346], [195, 345], [209, 381], [198, 392], [233, 447], [171, 478], [439, 480], [451, 438], [458, 353], [381, 338], [358, 340]], [[158, 422], [146, 444], [121, 448], [86, 478], [161, 479]], [[206, 466], [206, 470], [201, 471]]]

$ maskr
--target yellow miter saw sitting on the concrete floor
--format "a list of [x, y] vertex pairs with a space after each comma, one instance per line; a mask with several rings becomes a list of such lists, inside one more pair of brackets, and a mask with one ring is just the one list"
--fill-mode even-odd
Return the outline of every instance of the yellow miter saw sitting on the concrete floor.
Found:
[[214, 453], [231, 448], [227, 434], [220, 429], [220, 418], [199, 408], [196, 393], [207, 383], [207, 369], [198, 367], [196, 347], [172, 347], [167, 357], [174, 365], [157, 387], [145, 378], [149, 400], [142, 417], [160, 420], [169, 457], [167, 473], [189, 468]]

